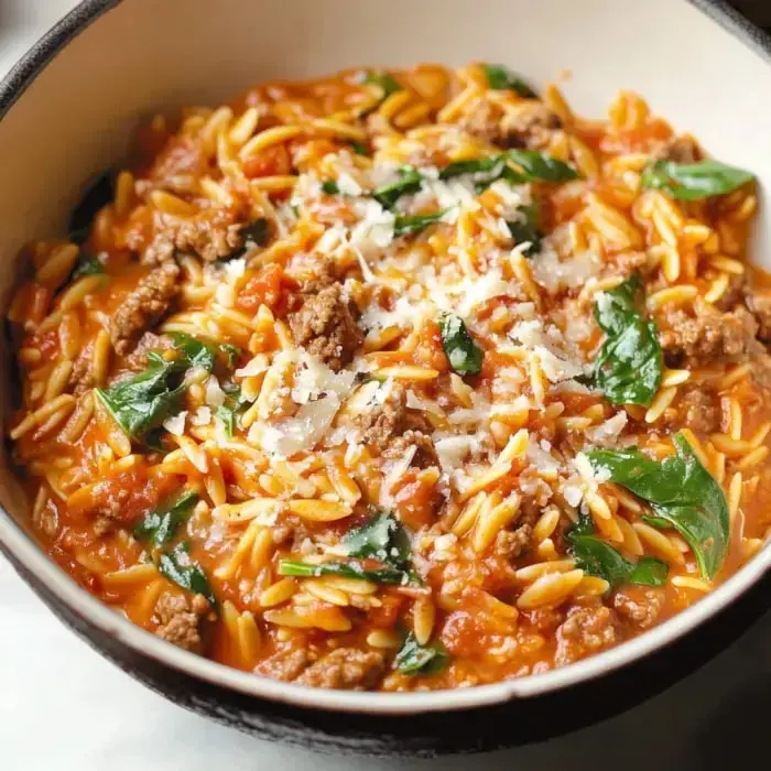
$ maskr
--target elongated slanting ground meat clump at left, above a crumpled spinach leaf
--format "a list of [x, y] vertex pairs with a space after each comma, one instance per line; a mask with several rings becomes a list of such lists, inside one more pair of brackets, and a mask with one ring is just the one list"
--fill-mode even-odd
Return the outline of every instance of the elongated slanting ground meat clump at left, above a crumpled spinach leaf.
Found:
[[118, 306], [110, 319], [112, 345], [118, 354], [131, 350], [140, 333], [158, 323], [180, 291], [180, 268], [164, 262], [142, 279], [137, 289]]

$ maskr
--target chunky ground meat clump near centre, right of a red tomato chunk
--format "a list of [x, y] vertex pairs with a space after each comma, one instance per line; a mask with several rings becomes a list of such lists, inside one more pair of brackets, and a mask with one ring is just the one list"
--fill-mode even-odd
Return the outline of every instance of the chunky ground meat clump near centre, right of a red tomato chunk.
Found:
[[350, 362], [365, 339], [339, 284], [306, 295], [300, 311], [290, 314], [289, 322], [294, 341], [336, 372]]

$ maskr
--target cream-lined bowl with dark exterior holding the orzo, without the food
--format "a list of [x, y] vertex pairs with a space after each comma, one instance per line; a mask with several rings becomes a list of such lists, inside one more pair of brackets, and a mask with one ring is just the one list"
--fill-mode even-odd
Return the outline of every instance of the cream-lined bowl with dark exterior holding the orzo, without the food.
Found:
[[[139, 116], [218, 104], [262, 79], [360, 65], [500, 61], [535, 83], [563, 70], [571, 102], [602, 115], [640, 91], [712, 154], [771, 184], [771, 41], [709, 0], [86, 0], [0, 86], [0, 296], [14, 254], [65, 231], [87, 184], [119, 159]], [[430, 31], [430, 33], [428, 33]], [[53, 183], [53, 184], [52, 184]], [[761, 215], [754, 251], [771, 254]], [[761, 261], [762, 264], [762, 261]], [[771, 267], [771, 263], [767, 264]], [[3, 344], [7, 355], [7, 344]], [[7, 424], [11, 367], [1, 381]], [[771, 551], [702, 601], [619, 648], [568, 667], [453, 692], [311, 689], [227, 669], [132, 626], [36, 545], [29, 502], [3, 456], [0, 549], [67, 626], [177, 704], [261, 738], [335, 752], [432, 754], [541, 740], [629, 708], [736, 639], [767, 608]]]

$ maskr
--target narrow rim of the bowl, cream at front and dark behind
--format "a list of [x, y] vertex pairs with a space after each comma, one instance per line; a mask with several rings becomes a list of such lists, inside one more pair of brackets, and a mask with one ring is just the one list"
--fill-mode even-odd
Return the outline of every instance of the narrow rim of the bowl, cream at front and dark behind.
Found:
[[[771, 37], [725, 0], [685, 1], [771, 63]], [[83, 0], [34, 43], [0, 80], [0, 120], [69, 42], [121, 2], [122, 0]], [[748, 590], [771, 567], [771, 549], [764, 547], [748, 565], [696, 605], [639, 638], [564, 669], [475, 688], [381, 694], [341, 693], [281, 683], [180, 650], [140, 629], [89, 595], [39, 549], [32, 536], [2, 507], [0, 547], [36, 579], [43, 582], [57, 601], [82, 617], [88, 626], [109, 634], [135, 653], [148, 656], [163, 666], [256, 698], [311, 709], [370, 715], [475, 709], [509, 699], [545, 695], [600, 677], [685, 636]]]

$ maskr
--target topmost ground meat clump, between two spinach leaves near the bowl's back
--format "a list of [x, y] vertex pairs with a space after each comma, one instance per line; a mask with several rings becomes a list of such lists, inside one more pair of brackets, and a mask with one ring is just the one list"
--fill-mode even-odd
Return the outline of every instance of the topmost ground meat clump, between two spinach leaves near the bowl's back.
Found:
[[562, 127], [556, 113], [536, 100], [522, 101], [515, 112], [501, 115], [497, 106], [482, 104], [460, 121], [463, 129], [499, 148], [545, 146]]

